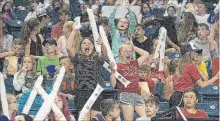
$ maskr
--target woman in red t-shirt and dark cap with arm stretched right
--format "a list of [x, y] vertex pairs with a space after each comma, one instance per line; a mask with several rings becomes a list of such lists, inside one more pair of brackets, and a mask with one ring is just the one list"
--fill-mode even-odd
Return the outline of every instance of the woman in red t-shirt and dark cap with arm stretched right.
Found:
[[181, 47], [182, 60], [179, 62], [173, 77], [174, 93], [170, 98], [171, 106], [183, 106], [183, 92], [187, 88], [194, 88], [195, 84], [207, 87], [219, 79], [219, 72], [209, 80], [202, 80], [198, 68], [194, 64], [198, 60], [197, 49], [192, 49], [190, 44]]

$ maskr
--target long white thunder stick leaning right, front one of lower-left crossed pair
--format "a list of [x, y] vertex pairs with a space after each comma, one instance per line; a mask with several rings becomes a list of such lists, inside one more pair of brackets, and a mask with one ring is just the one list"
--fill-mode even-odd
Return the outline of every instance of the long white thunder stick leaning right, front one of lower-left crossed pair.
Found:
[[57, 96], [57, 92], [60, 88], [60, 84], [63, 80], [65, 74], [65, 68], [61, 67], [59, 74], [57, 75], [56, 81], [53, 85], [53, 90], [51, 91], [51, 93], [49, 94], [49, 96], [46, 97], [46, 99], [44, 100], [43, 105], [40, 107], [40, 110], [38, 111], [37, 115], [35, 116], [34, 120], [44, 120], [45, 117], [50, 113], [51, 110], [51, 106]]

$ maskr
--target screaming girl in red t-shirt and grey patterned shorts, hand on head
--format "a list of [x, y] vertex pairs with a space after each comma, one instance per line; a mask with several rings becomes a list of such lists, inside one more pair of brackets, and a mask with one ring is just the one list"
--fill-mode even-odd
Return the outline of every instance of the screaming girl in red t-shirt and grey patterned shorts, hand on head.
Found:
[[[140, 55], [137, 60], [132, 59], [133, 52]], [[121, 61], [117, 63], [117, 70], [127, 80], [131, 81], [131, 84], [129, 84], [127, 88], [119, 83], [120, 102], [124, 119], [125, 121], [130, 121], [133, 120], [134, 111], [136, 111], [139, 116], [145, 115], [144, 100], [140, 95], [138, 67], [145, 62], [149, 53], [134, 46], [130, 42], [122, 44], [119, 53]], [[112, 87], [115, 88], [116, 79], [114, 71], [111, 72], [110, 79]]]

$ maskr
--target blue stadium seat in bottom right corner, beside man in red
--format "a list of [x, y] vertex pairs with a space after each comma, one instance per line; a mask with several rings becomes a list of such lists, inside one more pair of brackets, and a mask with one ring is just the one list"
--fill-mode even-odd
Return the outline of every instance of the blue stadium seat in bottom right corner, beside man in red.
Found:
[[204, 110], [209, 117], [219, 117], [219, 103], [198, 103], [196, 108]]

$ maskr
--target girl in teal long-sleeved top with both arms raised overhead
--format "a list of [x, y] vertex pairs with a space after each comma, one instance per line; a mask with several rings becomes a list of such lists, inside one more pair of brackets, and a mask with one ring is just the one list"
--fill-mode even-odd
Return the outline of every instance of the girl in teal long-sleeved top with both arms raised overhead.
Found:
[[[109, 18], [109, 27], [112, 38], [112, 53], [116, 61], [119, 61], [119, 48], [122, 43], [125, 42], [125, 39], [128, 38], [132, 33], [134, 33], [134, 29], [136, 26], [136, 18], [134, 12], [130, 10], [130, 6], [127, 5], [129, 11], [129, 20], [126, 18], [122, 18], [117, 23], [117, 28], [115, 26], [115, 14], [117, 11], [117, 7], [119, 6], [119, 2], [116, 2], [115, 9], [110, 15]], [[128, 31], [127, 31], [128, 30]]]

